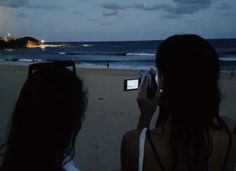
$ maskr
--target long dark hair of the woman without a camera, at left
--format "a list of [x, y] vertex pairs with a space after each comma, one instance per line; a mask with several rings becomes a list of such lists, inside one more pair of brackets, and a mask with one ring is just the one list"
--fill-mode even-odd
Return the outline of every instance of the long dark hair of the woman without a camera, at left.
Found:
[[75, 71], [61, 63], [29, 72], [13, 112], [1, 171], [63, 171], [65, 158], [74, 157], [87, 96]]

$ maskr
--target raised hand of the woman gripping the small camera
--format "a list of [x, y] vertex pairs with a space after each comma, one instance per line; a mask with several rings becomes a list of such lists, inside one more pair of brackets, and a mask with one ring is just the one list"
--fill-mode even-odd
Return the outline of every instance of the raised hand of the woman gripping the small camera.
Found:
[[150, 84], [150, 78], [145, 77], [140, 84], [138, 97], [137, 97], [137, 103], [140, 109], [140, 118], [138, 123], [138, 128], [142, 129], [144, 127], [149, 127], [149, 124], [151, 122], [152, 116], [154, 112], [156, 111], [156, 107], [160, 101], [160, 89], [158, 89], [155, 92], [155, 96], [152, 99], [149, 99], [147, 97], [147, 88]]

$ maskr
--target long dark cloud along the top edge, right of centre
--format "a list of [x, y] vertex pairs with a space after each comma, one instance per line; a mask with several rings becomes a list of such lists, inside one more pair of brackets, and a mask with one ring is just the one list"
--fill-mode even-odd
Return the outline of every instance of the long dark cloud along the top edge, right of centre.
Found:
[[[173, 0], [171, 4], [129, 4], [129, 5], [119, 5], [116, 3], [102, 3], [100, 6], [106, 10], [121, 11], [126, 9], [137, 9], [143, 11], [165, 11], [172, 16], [184, 14], [193, 14], [200, 10], [209, 8], [213, 1], [210, 0]], [[169, 15], [171, 16], [171, 15]], [[177, 18], [178, 18], [177, 17]]]

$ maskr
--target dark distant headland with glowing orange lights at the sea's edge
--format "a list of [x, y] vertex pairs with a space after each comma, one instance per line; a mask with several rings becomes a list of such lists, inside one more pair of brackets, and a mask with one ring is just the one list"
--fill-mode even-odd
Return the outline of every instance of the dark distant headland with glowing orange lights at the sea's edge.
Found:
[[0, 49], [65, 47], [65, 44], [46, 44], [33, 37], [0, 37]]

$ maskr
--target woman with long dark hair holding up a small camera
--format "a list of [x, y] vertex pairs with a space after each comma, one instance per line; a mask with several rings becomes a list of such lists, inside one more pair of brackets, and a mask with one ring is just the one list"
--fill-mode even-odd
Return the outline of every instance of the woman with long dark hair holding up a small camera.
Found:
[[[156, 55], [159, 88], [147, 98], [144, 78], [140, 119], [121, 146], [122, 171], [225, 171], [236, 161], [235, 124], [219, 115], [219, 59], [197, 35], [166, 39]], [[156, 106], [155, 129], [149, 127]]]

